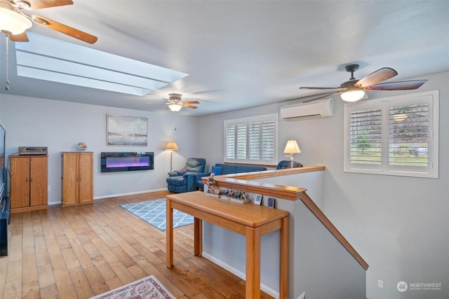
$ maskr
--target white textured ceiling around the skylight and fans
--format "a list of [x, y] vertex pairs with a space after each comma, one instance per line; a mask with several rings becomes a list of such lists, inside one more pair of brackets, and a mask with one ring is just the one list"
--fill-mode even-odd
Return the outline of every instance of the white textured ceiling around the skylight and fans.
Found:
[[163, 98], [176, 92], [201, 102], [179, 113], [204, 116], [319, 94], [298, 88], [337, 87], [349, 79], [350, 63], [360, 64], [356, 78], [392, 67], [398, 76], [390, 81], [449, 71], [449, 1], [74, 0], [29, 13], [98, 41], [89, 45], [38, 25], [29, 32], [189, 76], [144, 97], [18, 77], [10, 42], [5, 90], [2, 34], [0, 96], [168, 111]]

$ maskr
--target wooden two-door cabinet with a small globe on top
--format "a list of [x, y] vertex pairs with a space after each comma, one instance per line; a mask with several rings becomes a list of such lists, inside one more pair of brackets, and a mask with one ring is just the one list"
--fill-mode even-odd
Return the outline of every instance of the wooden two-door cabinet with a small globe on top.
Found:
[[93, 202], [93, 153], [62, 153], [62, 205]]

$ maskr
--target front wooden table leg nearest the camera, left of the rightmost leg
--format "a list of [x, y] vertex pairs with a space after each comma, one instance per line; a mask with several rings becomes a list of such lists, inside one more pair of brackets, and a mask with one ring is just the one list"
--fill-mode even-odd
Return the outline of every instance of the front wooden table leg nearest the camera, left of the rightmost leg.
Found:
[[260, 228], [246, 227], [246, 299], [260, 298]]

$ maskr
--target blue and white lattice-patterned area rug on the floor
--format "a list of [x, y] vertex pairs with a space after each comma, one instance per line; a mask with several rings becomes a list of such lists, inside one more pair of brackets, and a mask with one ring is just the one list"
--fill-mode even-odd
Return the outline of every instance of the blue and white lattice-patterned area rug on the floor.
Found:
[[[136, 202], [133, 204], [121, 204], [123, 209], [131, 214], [147, 221], [159, 230], [165, 231], [166, 228], [166, 199], [149, 200], [147, 202]], [[173, 228], [180, 228], [184, 225], [194, 223], [194, 217], [185, 214], [182, 211], [173, 209]]]

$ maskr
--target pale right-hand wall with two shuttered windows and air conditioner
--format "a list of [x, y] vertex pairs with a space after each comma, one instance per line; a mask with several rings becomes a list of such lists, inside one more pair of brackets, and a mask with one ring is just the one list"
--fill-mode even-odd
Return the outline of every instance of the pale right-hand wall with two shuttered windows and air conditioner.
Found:
[[[283, 147], [293, 138], [301, 148], [295, 160], [326, 166], [323, 211], [370, 265], [366, 295], [371, 299], [449, 298], [449, 73], [425, 78], [429, 81], [419, 92], [440, 90], [439, 179], [343, 172], [344, 105], [338, 98], [331, 118], [279, 120], [278, 160], [284, 159]], [[413, 92], [373, 91], [368, 96]], [[199, 155], [208, 165], [222, 162], [224, 120], [276, 113], [286, 104], [201, 118]], [[384, 288], [377, 286], [379, 279]], [[441, 283], [442, 289], [400, 293], [399, 281]]]

